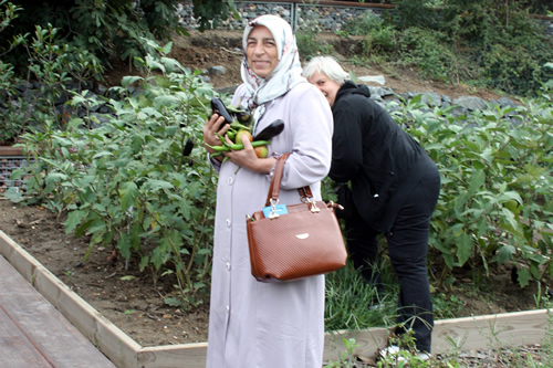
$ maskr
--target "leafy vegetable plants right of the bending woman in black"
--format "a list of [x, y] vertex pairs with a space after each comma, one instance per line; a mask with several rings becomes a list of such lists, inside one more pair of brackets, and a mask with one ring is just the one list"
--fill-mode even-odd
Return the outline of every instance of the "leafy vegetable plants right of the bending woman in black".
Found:
[[440, 170], [430, 245], [447, 270], [469, 263], [487, 274], [489, 262], [515, 262], [521, 286], [553, 276], [551, 105], [489, 106], [470, 124], [456, 106], [420, 107], [419, 96], [394, 115]]

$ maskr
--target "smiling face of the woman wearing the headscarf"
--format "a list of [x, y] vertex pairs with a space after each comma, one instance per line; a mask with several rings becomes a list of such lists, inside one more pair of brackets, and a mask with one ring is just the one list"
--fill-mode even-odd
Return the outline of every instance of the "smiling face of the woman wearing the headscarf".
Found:
[[264, 25], [255, 25], [248, 35], [246, 61], [253, 73], [265, 78], [279, 64], [276, 43], [271, 31]]

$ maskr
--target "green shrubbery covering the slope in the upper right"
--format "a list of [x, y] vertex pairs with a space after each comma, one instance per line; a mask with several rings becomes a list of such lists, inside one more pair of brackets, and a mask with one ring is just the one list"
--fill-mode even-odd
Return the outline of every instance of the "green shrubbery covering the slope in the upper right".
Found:
[[415, 66], [424, 77], [536, 96], [551, 74], [553, 39], [519, 2], [398, 0], [382, 22], [366, 15], [341, 34], [365, 34], [373, 62]]

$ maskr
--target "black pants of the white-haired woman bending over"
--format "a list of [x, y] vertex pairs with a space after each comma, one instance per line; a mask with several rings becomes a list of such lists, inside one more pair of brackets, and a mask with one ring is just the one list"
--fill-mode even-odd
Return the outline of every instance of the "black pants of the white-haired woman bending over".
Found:
[[[438, 200], [440, 177], [430, 169], [405, 200], [389, 233], [385, 234], [394, 272], [399, 281], [397, 324], [413, 329], [416, 347], [430, 353], [434, 328], [432, 299], [427, 274], [430, 218]], [[383, 291], [378, 272], [378, 232], [361, 215], [346, 220], [351, 259], [363, 277]], [[398, 330], [401, 334], [404, 330]]]

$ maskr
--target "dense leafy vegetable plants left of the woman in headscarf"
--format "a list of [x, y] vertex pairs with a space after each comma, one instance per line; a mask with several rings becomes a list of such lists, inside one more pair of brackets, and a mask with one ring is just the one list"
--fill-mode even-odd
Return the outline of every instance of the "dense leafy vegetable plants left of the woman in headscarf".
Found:
[[[98, 116], [87, 114], [65, 130], [27, 134], [25, 175], [29, 191], [67, 212], [67, 233], [90, 236], [85, 259], [95, 246], [113, 246], [154, 281], [171, 274], [176, 288], [166, 302], [188, 308], [204, 301], [211, 269], [216, 177], [205, 150], [191, 148], [202, 141], [216, 93], [200, 72], [164, 56], [170, 44], [157, 50], [159, 57], [137, 60], [146, 76], [124, 77], [109, 91], [115, 117], [93, 129]], [[71, 101], [87, 112], [97, 103], [86, 91]]]

